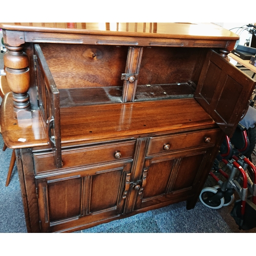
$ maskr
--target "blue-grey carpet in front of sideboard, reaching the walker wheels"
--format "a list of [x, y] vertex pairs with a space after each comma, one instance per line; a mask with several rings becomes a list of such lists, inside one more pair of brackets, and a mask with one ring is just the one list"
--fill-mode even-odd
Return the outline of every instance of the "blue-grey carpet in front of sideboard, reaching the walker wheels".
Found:
[[198, 202], [192, 210], [181, 202], [82, 230], [84, 233], [230, 233], [216, 210]]

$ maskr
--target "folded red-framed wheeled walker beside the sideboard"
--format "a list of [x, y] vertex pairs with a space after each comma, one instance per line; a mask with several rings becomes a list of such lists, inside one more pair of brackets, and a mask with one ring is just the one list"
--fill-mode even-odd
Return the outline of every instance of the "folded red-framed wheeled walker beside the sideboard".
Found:
[[238, 133], [241, 133], [236, 137], [240, 138], [238, 141], [231, 141], [226, 136], [209, 173], [218, 185], [203, 188], [199, 199], [205, 206], [219, 209], [234, 202], [236, 191], [240, 199], [234, 202], [231, 216], [239, 229], [249, 230], [256, 227], [256, 167], [243, 155], [250, 145], [246, 129], [238, 130]]

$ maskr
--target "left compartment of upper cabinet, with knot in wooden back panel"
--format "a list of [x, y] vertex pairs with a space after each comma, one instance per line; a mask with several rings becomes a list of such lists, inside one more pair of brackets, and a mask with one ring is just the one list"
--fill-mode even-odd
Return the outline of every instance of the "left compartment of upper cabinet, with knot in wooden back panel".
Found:
[[126, 46], [40, 44], [61, 106], [122, 102]]

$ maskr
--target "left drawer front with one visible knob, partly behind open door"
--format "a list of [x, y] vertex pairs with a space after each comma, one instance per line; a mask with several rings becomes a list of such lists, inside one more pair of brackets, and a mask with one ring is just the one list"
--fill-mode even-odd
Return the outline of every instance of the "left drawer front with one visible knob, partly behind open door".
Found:
[[[136, 140], [62, 150], [62, 167], [70, 168], [80, 165], [132, 159], [135, 142]], [[35, 174], [56, 169], [52, 153], [34, 153], [33, 159]]]

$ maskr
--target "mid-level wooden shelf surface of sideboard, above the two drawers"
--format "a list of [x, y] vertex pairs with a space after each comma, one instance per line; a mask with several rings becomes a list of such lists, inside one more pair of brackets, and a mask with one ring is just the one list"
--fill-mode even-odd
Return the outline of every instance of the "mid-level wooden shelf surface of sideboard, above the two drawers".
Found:
[[[3, 101], [1, 127], [8, 147], [47, 146], [45, 123], [38, 111], [30, 120], [17, 121], [7, 114], [12, 109], [12, 95], [8, 93]], [[194, 98], [131, 102], [121, 108], [118, 103], [61, 108], [60, 115], [62, 145], [217, 127]]]

